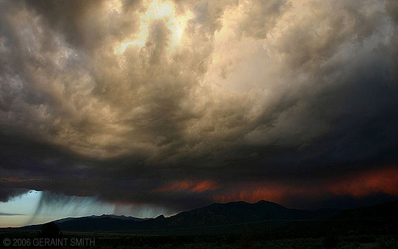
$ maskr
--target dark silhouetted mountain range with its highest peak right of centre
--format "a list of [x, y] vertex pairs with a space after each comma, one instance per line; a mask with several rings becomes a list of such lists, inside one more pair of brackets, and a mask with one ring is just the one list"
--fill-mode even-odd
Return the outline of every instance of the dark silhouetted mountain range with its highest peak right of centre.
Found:
[[[140, 219], [116, 215], [66, 218], [55, 221], [63, 231], [131, 231], [170, 228], [193, 228], [250, 223], [266, 220], [319, 219], [336, 215], [339, 210], [298, 210], [277, 203], [244, 201], [214, 203], [203, 208], [180, 212], [171, 217], [160, 215], [155, 219]], [[40, 225], [26, 226], [25, 230], [38, 230]]]

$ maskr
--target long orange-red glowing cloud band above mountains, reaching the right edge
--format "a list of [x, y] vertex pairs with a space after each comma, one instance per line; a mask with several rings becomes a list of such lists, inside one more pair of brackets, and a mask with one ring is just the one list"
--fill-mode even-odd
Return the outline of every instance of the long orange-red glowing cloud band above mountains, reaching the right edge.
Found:
[[365, 197], [367, 195], [383, 193], [398, 196], [397, 168], [383, 168], [367, 170], [350, 175], [330, 179], [325, 183], [307, 186], [294, 186], [289, 183], [257, 182], [246, 183], [235, 188], [236, 190], [214, 196], [214, 201], [248, 201], [260, 200], [283, 203], [292, 196], [319, 198], [323, 195]]

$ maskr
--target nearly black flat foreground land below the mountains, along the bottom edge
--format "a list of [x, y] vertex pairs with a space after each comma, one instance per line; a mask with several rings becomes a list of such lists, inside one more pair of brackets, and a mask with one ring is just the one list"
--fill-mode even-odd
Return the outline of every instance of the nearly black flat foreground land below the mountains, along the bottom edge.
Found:
[[[303, 238], [270, 238], [269, 235], [256, 233], [249, 228], [243, 228], [236, 235], [132, 235], [104, 232], [64, 232], [63, 238], [90, 239], [95, 241], [95, 246], [61, 246], [53, 248], [236, 248], [236, 249], [396, 249], [398, 248], [398, 236], [394, 235], [350, 235], [336, 236], [324, 235], [322, 237]], [[1, 241], [5, 238], [34, 239], [37, 232], [2, 230]], [[51, 248], [34, 246], [1, 246], [1, 248]]]

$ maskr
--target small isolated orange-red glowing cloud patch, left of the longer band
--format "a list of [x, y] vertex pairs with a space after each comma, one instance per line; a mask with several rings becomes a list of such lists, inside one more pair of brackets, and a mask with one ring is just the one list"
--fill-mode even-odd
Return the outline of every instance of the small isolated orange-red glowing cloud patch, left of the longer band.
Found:
[[205, 192], [209, 190], [217, 190], [220, 188], [214, 181], [175, 181], [167, 186], [158, 188], [155, 192], [169, 191], [189, 191], [189, 192]]

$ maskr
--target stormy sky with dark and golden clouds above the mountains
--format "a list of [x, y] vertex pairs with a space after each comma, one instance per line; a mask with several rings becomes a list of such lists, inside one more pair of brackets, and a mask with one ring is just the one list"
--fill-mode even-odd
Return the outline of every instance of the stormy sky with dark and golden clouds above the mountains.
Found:
[[0, 0], [0, 226], [398, 198], [396, 0]]

